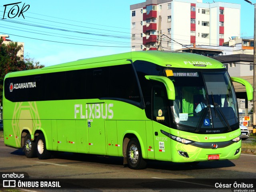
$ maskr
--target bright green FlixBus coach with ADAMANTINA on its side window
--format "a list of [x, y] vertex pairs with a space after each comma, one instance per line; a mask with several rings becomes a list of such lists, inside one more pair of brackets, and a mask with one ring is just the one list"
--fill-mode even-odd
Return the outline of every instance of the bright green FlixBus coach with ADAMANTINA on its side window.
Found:
[[201, 162], [241, 153], [238, 105], [225, 66], [198, 54], [140, 51], [88, 58], [4, 79], [4, 143], [28, 158], [51, 151]]

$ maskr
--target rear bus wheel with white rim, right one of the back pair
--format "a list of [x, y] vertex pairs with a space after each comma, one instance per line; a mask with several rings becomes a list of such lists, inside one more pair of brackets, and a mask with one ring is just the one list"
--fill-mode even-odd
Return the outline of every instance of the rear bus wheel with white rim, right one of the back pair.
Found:
[[36, 138], [36, 154], [38, 159], [49, 159], [51, 157], [51, 152], [46, 149], [46, 142], [44, 134], [39, 134]]

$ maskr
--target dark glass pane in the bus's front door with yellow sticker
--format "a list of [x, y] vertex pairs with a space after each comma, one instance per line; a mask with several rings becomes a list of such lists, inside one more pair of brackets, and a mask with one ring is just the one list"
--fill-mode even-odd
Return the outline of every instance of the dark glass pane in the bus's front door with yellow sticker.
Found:
[[162, 87], [153, 87], [153, 120], [170, 126], [168, 106], [170, 105], [167, 98], [166, 89]]

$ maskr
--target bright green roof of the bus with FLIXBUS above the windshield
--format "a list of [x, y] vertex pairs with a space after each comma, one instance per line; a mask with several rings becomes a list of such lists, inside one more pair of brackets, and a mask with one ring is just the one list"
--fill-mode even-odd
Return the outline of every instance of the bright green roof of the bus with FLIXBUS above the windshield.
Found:
[[[96, 68], [100, 66], [111, 66], [117, 64], [127, 64], [129, 62], [123, 62], [126, 60], [144, 60], [158, 64], [160, 66], [171, 66], [174, 68], [224, 68], [224, 65], [212, 58], [191, 54], [186, 52], [173, 52], [173, 51], [134, 51], [127, 53], [120, 53], [108, 56], [100, 56], [94, 58], [80, 59], [77, 61], [67, 62], [63, 64], [57, 64], [47, 66], [36, 70], [26, 70], [20, 72], [13, 72], [8, 76], [20, 76], [29, 74], [41, 74], [46, 72], [57, 72], [64, 70], [76, 70], [81, 68]], [[122, 61], [122, 62], [117, 62]], [[103, 62], [109, 62], [108, 64]], [[114, 64], [115, 63], [115, 64]], [[86, 65], [86, 67], [84, 66]]]

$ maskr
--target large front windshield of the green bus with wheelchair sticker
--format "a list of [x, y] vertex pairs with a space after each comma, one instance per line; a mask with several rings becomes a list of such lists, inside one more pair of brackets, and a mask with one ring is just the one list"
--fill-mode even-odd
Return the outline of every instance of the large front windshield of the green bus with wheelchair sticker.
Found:
[[[168, 76], [174, 83], [174, 122], [201, 129], [231, 127], [238, 123], [236, 97], [226, 71], [176, 71]], [[168, 74], [166, 72], [166, 74]]]

